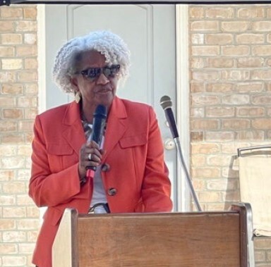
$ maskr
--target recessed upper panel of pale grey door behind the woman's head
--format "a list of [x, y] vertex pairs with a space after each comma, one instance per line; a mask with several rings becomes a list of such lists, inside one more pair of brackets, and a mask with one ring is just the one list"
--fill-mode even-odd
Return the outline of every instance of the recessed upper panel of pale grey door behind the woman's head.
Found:
[[152, 103], [152, 6], [68, 6], [69, 37], [94, 30], [111, 30], [128, 44], [131, 53], [131, 75], [119, 97]]

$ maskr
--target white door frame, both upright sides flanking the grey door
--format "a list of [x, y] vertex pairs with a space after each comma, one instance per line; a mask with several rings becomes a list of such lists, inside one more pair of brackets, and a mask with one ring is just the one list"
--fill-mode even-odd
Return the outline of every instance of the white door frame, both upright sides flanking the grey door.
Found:
[[[37, 47], [38, 47], [38, 106], [41, 113], [46, 110], [47, 82], [45, 69], [45, 5], [37, 6]], [[188, 5], [176, 5], [176, 124], [179, 130], [183, 157], [186, 165], [190, 162], [189, 132], [189, 58], [188, 58]], [[179, 125], [179, 126], [178, 126]], [[188, 168], [189, 169], [189, 168]], [[191, 211], [191, 197], [181, 163], [177, 162], [176, 211]]]

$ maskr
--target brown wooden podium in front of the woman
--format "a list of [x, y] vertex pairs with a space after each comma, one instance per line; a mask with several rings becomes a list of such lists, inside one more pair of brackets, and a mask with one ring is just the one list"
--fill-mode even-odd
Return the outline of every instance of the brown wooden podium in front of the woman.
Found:
[[53, 267], [251, 267], [249, 208], [128, 214], [66, 209], [53, 245]]

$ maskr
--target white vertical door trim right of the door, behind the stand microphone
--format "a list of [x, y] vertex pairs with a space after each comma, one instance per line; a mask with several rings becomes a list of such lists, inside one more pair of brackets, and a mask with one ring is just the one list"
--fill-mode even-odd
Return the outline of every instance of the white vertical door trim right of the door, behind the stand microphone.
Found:
[[[181, 147], [189, 170], [189, 58], [188, 58], [188, 5], [176, 5], [176, 121], [179, 125]], [[191, 196], [181, 163], [177, 163], [178, 211], [191, 210]]]

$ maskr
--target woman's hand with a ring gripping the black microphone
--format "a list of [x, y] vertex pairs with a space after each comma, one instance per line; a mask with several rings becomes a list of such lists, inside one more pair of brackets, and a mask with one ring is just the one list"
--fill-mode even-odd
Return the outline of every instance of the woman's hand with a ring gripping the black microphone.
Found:
[[78, 173], [80, 181], [85, 179], [87, 173], [87, 167], [97, 167], [102, 161], [103, 149], [100, 149], [99, 145], [95, 141], [90, 141], [80, 149]]

